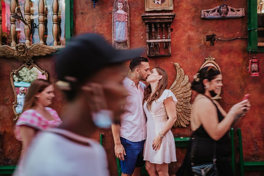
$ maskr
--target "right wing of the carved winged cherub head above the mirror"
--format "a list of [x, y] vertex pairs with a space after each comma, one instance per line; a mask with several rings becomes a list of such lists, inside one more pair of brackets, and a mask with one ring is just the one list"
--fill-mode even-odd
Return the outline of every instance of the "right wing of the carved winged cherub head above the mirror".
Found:
[[28, 59], [32, 58], [33, 56], [45, 56], [46, 54], [54, 53], [57, 49], [52, 48], [50, 46], [35, 43], [28, 47]]

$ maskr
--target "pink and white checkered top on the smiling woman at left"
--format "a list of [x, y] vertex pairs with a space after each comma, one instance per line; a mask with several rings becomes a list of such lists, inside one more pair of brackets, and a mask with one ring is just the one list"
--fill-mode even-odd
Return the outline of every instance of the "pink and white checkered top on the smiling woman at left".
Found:
[[19, 129], [19, 127], [22, 125], [29, 126], [36, 130], [45, 131], [48, 128], [56, 127], [62, 123], [60, 117], [54, 109], [49, 107], [45, 107], [45, 109], [48, 111], [48, 113], [50, 113], [54, 120], [48, 121], [35, 109], [28, 109], [19, 116], [14, 129], [14, 133], [18, 141], [22, 141]]

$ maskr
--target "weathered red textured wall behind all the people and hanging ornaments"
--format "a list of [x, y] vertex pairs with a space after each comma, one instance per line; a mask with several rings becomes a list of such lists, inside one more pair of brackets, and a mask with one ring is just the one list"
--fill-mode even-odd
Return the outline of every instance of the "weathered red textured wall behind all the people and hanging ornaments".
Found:
[[[92, 1], [74, 1], [74, 35], [85, 32], [97, 32], [103, 34], [109, 43], [112, 43], [112, 5], [114, 0], [99, 0], [95, 9]], [[129, 0], [130, 7], [130, 45], [131, 48], [145, 47], [146, 27], [141, 19], [141, 13], [145, 12], [143, 0]], [[251, 94], [251, 111], [235, 127], [241, 128], [243, 138], [243, 154], [245, 161], [264, 160], [263, 155], [263, 116], [264, 116], [264, 95], [263, 95], [263, 74], [264, 54], [260, 54], [260, 77], [249, 77], [248, 53], [246, 52], [247, 40], [218, 41], [214, 46], [206, 45], [205, 35], [212, 33], [218, 38], [234, 38], [247, 36], [247, 0], [233, 0], [226, 3], [234, 8], [245, 8], [246, 16], [235, 19], [201, 19], [201, 10], [211, 9], [225, 3], [224, 0], [174, 0], [176, 13], [171, 28], [171, 57], [148, 58], [150, 67], [159, 66], [165, 69], [169, 76], [168, 88], [174, 82], [176, 70], [173, 63], [177, 62], [184, 69], [185, 74], [191, 81], [204, 58], [211, 55], [216, 58], [216, 63], [223, 73], [222, 99], [220, 104], [226, 111], [231, 106], [243, 99], [244, 94]], [[143, 54], [146, 56], [146, 53]], [[51, 81], [54, 81], [54, 57], [38, 57], [35, 63], [40, 68], [47, 70]], [[87, 58], [90, 59], [90, 58]], [[13, 89], [10, 83], [10, 72], [17, 69], [22, 63], [14, 59], [0, 58], [0, 165], [15, 165], [21, 150], [20, 142], [16, 141], [13, 135], [12, 120], [14, 115], [12, 103], [14, 101]], [[127, 64], [128, 65], [128, 64]], [[53, 101], [53, 108], [60, 112], [63, 109], [63, 100], [60, 92], [56, 91], [56, 98]], [[195, 97], [192, 94], [192, 100]], [[99, 139], [99, 133], [104, 133], [103, 146], [107, 152], [110, 173], [117, 175], [116, 160], [114, 156], [114, 141], [110, 130], [97, 131], [94, 138]], [[190, 135], [190, 127], [172, 129], [175, 137], [187, 137]], [[237, 141], [235, 141], [235, 148]], [[185, 155], [185, 148], [177, 148], [177, 162], [169, 165], [169, 172], [177, 171]], [[236, 163], [238, 152], [236, 151]], [[238, 166], [238, 165], [237, 165]], [[236, 167], [237, 167], [236, 166]], [[239, 167], [236, 168], [239, 172]], [[245, 172], [245, 175], [262, 175], [263, 172]]]

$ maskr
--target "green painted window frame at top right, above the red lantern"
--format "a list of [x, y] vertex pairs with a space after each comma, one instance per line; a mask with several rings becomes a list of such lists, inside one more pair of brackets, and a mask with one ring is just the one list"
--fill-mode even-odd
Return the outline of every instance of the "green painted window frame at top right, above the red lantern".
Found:
[[248, 37], [247, 51], [264, 53], [264, 47], [258, 47], [257, 0], [248, 0]]

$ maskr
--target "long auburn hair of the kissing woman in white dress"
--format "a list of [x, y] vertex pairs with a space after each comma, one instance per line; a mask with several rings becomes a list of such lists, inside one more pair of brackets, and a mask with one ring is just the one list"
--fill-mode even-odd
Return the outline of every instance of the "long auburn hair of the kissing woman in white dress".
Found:
[[159, 80], [159, 83], [157, 84], [156, 90], [151, 97], [150, 97], [150, 94], [151, 94], [150, 84], [148, 84], [147, 87], [145, 88], [143, 104], [150, 97], [149, 101], [147, 102], [148, 110], [151, 110], [151, 105], [152, 105], [153, 101], [157, 100], [161, 96], [163, 91], [167, 88], [167, 84], [168, 84], [167, 72], [160, 67], [155, 67], [155, 69], [157, 70], [158, 74], [162, 76], [162, 78]]

